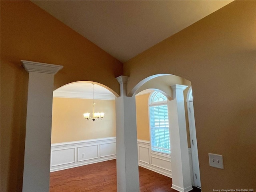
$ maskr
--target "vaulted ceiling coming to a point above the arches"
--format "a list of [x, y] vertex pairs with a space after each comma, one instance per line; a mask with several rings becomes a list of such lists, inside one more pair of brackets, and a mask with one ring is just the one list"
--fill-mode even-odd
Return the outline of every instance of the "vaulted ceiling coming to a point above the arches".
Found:
[[32, 2], [110, 55], [126, 62], [232, 1]]

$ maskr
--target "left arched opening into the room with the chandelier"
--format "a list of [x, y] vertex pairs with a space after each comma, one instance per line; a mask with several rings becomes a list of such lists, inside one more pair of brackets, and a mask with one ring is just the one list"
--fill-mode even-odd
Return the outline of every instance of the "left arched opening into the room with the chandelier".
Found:
[[[89, 184], [93, 177], [83, 172], [88, 167], [84, 165], [96, 166], [95, 163], [109, 160], [109, 165], [116, 163], [115, 98], [109, 88], [91, 81], [72, 82], [54, 90], [50, 161], [50, 188], [54, 191], [61, 191], [65, 183], [70, 183], [73, 191], [88, 190], [86, 187], [92, 188]], [[104, 112], [104, 118], [95, 121], [84, 118], [83, 113], [92, 116], [92, 103], [95, 113]], [[68, 170], [63, 172], [65, 169]], [[70, 182], [69, 173], [78, 179]], [[90, 171], [90, 175], [94, 173], [98, 171]], [[98, 182], [104, 184], [105, 190], [111, 190], [108, 187], [112, 185], [108, 185], [105, 177], [98, 178]], [[100, 186], [94, 186], [94, 190], [100, 190]]]

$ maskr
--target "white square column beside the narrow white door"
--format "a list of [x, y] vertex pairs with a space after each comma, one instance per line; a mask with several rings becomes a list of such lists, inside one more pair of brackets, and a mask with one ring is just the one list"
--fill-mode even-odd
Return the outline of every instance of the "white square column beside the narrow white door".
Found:
[[[190, 166], [188, 156], [188, 141], [183, 91], [188, 87], [173, 85], [173, 100], [168, 101], [171, 160], [172, 160], [172, 188], [180, 192], [192, 190]], [[176, 109], [176, 110], [174, 110]]]

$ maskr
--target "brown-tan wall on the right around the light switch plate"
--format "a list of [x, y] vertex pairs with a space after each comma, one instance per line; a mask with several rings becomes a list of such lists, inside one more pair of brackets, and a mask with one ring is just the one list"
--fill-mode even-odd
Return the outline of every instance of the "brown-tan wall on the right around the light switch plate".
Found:
[[[205, 192], [256, 189], [255, 10], [255, 1], [231, 2], [124, 64], [128, 92], [154, 74], [191, 81]], [[208, 153], [223, 155], [224, 170]]]

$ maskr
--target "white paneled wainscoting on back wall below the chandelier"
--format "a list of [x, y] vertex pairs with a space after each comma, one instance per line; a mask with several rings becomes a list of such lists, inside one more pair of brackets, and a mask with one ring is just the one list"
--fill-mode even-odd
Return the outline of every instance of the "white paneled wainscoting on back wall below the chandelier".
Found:
[[50, 172], [116, 159], [116, 138], [51, 145]]

